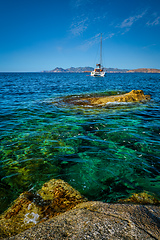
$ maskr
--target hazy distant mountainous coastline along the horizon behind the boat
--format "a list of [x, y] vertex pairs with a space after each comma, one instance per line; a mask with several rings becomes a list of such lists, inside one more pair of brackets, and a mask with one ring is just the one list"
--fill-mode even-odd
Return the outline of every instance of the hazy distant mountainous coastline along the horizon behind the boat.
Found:
[[[56, 67], [53, 70], [42, 71], [44, 73], [90, 73], [93, 71], [92, 67], [71, 67], [71, 68], [59, 68]], [[106, 73], [160, 73], [160, 69], [154, 68], [138, 68], [138, 69], [118, 69], [118, 68], [104, 68]]]

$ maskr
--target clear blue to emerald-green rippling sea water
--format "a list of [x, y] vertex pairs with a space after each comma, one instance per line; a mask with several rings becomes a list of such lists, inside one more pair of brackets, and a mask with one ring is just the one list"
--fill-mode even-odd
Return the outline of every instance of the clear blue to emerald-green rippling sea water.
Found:
[[[151, 100], [74, 105], [133, 89]], [[160, 199], [160, 74], [0, 73], [0, 212], [53, 178], [89, 200]]]

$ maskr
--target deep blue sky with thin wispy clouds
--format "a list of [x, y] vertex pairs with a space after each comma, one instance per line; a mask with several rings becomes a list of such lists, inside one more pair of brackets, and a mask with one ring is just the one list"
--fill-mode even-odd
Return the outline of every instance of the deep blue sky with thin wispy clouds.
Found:
[[160, 0], [0, 0], [0, 72], [160, 69]]

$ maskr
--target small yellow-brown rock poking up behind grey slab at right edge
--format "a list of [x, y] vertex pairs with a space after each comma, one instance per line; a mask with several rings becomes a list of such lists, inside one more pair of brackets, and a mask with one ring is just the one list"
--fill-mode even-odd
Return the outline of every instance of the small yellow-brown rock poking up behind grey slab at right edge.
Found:
[[121, 203], [136, 203], [136, 204], [151, 204], [151, 205], [160, 205], [160, 201], [148, 194], [147, 192], [142, 193], [133, 193], [129, 198], [127, 199], [120, 199], [119, 202]]

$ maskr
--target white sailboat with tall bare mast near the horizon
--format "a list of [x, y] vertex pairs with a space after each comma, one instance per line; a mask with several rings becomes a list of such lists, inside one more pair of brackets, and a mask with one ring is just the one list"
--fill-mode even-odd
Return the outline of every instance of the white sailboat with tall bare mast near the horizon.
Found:
[[100, 63], [96, 64], [96, 68], [91, 72], [91, 76], [93, 77], [104, 77], [105, 71], [102, 67], [102, 33], [101, 33], [101, 40], [100, 40]]

